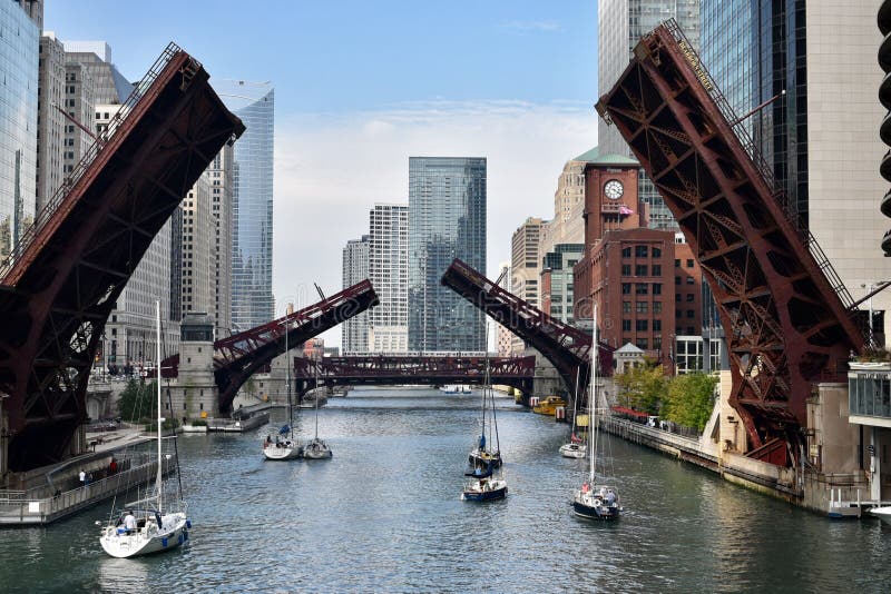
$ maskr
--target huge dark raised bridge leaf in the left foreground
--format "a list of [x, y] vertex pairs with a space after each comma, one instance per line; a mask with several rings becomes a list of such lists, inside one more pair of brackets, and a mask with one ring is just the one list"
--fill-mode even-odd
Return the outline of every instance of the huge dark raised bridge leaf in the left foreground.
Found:
[[182, 198], [244, 131], [207, 79], [170, 44], [0, 268], [12, 471], [75, 453], [109, 313]]

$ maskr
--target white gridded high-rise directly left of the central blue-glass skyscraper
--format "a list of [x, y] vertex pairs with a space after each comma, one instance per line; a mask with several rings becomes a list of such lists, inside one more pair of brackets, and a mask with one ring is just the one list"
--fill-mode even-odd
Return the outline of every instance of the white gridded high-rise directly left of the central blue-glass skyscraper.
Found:
[[368, 274], [380, 304], [369, 310], [372, 353], [409, 350], [409, 207], [374, 205], [369, 216]]

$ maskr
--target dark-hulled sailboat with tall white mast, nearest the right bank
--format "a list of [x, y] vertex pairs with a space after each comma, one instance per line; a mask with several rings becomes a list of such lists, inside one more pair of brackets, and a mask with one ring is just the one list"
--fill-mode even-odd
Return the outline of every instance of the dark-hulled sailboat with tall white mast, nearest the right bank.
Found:
[[609, 485], [595, 485], [597, 472], [597, 306], [594, 306], [594, 334], [591, 338], [591, 383], [588, 398], [590, 408], [588, 458], [590, 461], [588, 477], [572, 497], [572, 512], [580, 517], [591, 519], [610, 519], [619, 517], [621, 502], [619, 493]]

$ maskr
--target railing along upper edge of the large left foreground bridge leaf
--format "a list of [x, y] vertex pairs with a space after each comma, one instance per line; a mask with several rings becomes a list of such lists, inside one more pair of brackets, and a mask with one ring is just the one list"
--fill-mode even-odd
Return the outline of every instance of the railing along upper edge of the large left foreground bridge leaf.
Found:
[[[111, 121], [108, 123], [108, 128], [102, 130], [100, 133], [96, 136], [96, 140], [90, 145], [84, 156], [75, 166], [74, 170], [68, 174], [62, 180], [61, 186], [56, 190], [50, 198], [46, 206], [37, 214], [35, 217], [33, 224], [29, 226], [25, 232], [22, 232], [21, 237], [16, 241], [14, 247], [10, 250], [9, 256], [2, 261], [0, 261], [0, 281], [6, 278], [7, 274], [12, 269], [13, 265], [19, 260], [26, 249], [35, 241], [38, 232], [47, 225], [56, 211], [59, 209], [59, 206], [65, 201], [66, 196], [77, 186], [77, 184], [84, 177], [84, 174], [89, 169], [92, 161], [96, 160], [96, 157], [101, 152], [102, 148], [108, 143], [108, 141], [115, 136], [115, 133], [124, 128], [124, 123], [127, 119], [127, 116], [133, 111], [133, 109], [145, 97], [149, 97], [148, 89], [155, 82], [155, 80], [160, 76], [164, 69], [167, 67], [167, 63], [179, 53], [182, 48], [174, 42], [170, 42], [167, 48], [161, 52], [155, 63], [148, 69], [148, 72], [134, 86], [133, 92], [127, 98], [124, 103], [121, 103], [120, 108], [118, 109], [115, 117], [111, 118]], [[196, 62], [197, 63], [197, 62]], [[14, 240], [14, 238], [12, 238]]]

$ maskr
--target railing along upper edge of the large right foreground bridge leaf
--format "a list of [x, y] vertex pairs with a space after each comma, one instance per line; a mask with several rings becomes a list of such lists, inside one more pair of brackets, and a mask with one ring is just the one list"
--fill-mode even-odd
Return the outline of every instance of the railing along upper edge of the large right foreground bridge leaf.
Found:
[[774, 177], [773, 169], [764, 159], [761, 149], [757, 147], [754, 139], [748, 133], [748, 130], [746, 130], [745, 126], [743, 125], [743, 121], [745, 120], [741, 120], [736, 116], [736, 112], [734, 111], [733, 107], [731, 107], [730, 102], [727, 101], [727, 98], [724, 97], [724, 93], [721, 92], [721, 89], [715, 82], [715, 79], [712, 78], [712, 75], [708, 72], [708, 69], [706, 69], [705, 65], [703, 63], [696, 50], [693, 49], [693, 46], [689, 43], [689, 40], [684, 34], [684, 31], [681, 29], [681, 26], [677, 23], [677, 21], [674, 19], [669, 19], [663, 22], [662, 27], [664, 27], [665, 30], [672, 34], [675, 41], [677, 41], [678, 46], [682, 47], [682, 52], [685, 56], [689, 56], [689, 59], [696, 60], [695, 65], [696, 75], [699, 78], [701, 82], [703, 82], [703, 79], [705, 82], [707, 82], [706, 85], [703, 85], [703, 89], [712, 98], [712, 101], [714, 101], [715, 106], [717, 107], [718, 111], [721, 111], [722, 116], [724, 116], [724, 119], [726, 120], [731, 131], [736, 136], [736, 139], [738, 140], [743, 150], [745, 150], [746, 155], [748, 155], [748, 158], [752, 160], [752, 165], [761, 174], [761, 177], [767, 185], [767, 188], [773, 194], [774, 201], [776, 202], [777, 206], [780, 206], [780, 209], [785, 215], [786, 220], [792, 225], [792, 228], [795, 229], [795, 231], [799, 234], [805, 247], [807, 248], [809, 253], [816, 261], [817, 267], [825, 275], [830, 287], [832, 287], [832, 290], [834, 290], [835, 294], [839, 296], [839, 299], [842, 301], [842, 305], [845, 307], [845, 309], [850, 309], [854, 303], [854, 299], [851, 297], [851, 294], [844, 286], [844, 283], [842, 283], [842, 279], [835, 271], [835, 268], [832, 266], [832, 263], [830, 263], [829, 258], [826, 258], [825, 253], [823, 253], [823, 249], [816, 242], [816, 238], [813, 236], [813, 234], [811, 234], [811, 231], [806, 227], [804, 227], [801, 224], [801, 218], [799, 217], [797, 209], [794, 208], [793, 205], [790, 202], [789, 198], [786, 197], [786, 194], [782, 189], [776, 187], [776, 178]]

